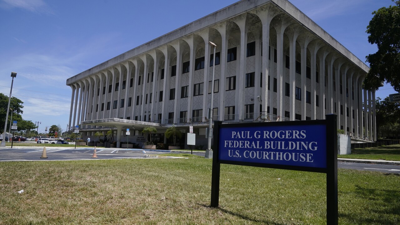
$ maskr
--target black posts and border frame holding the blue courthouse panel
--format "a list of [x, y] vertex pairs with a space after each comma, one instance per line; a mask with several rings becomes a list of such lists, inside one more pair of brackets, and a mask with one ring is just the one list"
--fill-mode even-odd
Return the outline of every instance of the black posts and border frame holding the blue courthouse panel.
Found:
[[[310, 121], [287, 121], [287, 122], [264, 122], [264, 123], [229, 123], [222, 124], [222, 121], [214, 121], [214, 156], [212, 159], [212, 177], [211, 177], [211, 207], [218, 207], [220, 192], [220, 165], [242, 165], [252, 167], [264, 167], [273, 169], [288, 169], [297, 171], [308, 171], [316, 173], [326, 173], [326, 224], [338, 224], [338, 164], [337, 164], [337, 115], [326, 115], [325, 120]], [[220, 160], [219, 140], [220, 129], [226, 127], [265, 127], [274, 126], [301, 126], [301, 125], [325, 125], [326, 128], [326, 168], [303, 167], [292, 165], [278, 165], [267, 163], [249, 163], [242, 161]], [[324, 146], [324, 145], [322, 145]]]

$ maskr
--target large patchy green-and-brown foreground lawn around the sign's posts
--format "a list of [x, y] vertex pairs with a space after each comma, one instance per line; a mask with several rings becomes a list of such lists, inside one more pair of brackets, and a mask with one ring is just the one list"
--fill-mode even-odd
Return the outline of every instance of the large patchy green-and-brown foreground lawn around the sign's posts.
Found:
[[[326, 224], [325, 174], [221, 165], [213, 209], [212, 161], [180, 155], [188, 159], [1, 162], [0, 225]], [[398, 225], [399, 184], [339, 169], [339, 224]]]

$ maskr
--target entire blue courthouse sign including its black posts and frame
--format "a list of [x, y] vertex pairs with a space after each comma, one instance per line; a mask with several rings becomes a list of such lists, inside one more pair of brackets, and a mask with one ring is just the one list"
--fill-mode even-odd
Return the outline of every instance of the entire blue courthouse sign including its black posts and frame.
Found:
[[218, 207], [220, 164], [326, 173], [326, 224], [338, 224], [336, 115], [326, 120], [214, 122], [211, 207]]

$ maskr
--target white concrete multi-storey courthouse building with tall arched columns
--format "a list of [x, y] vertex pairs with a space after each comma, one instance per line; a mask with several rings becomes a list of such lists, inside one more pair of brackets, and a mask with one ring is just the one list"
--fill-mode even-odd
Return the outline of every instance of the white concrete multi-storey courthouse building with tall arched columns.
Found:
[[78, 125], [92, 139], [112, 129], [120, 147], [141, 145], [144, 127], [168, 142], [168, 127], [193, 126], [206, 149], [210, 117], [268, 123], [333, 113], [352, 140], [374, 141], [375, 90], [362, 87], [368, 70], [289, 1], [242, 0], [68, 78], [68, 129]]

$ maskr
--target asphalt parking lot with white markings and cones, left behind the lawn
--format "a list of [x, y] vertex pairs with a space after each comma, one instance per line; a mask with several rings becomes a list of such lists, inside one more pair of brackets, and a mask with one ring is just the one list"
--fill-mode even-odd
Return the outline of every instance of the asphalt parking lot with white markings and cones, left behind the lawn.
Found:
[[145, 155], [160, 154], [158, 151], [142, 151], [142, 149], [97, 148], [97, 158], [92, 158], [93, 147], [65, 148], [46, 147], [48, 158], [41, 159], [43, 147], [2, 147], [0, 161], [49, 161], [49, 160], [97, 160], [97, 159], [134, 159], [145, 158]]

